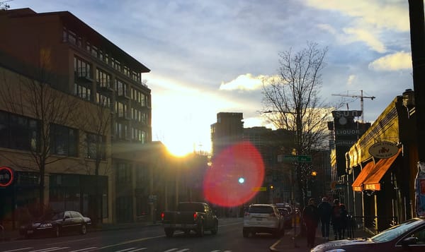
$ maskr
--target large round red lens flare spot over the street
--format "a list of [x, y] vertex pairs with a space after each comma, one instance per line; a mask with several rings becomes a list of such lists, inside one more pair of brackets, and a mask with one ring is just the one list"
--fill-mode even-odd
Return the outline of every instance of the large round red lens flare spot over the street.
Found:
[[[243, 178], [243, 183], [239, 179]], [[256, 195], [263, 184], [264, 163], [260, 152], [249, 142], [232, 145], [220, 152], [203, 181], [208, 202], [224, 207], [242, 205]]]

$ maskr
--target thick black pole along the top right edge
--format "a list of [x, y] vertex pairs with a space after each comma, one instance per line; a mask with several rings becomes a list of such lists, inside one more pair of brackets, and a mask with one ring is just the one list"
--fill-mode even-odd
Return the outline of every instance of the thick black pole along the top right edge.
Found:
[[[425, 25], [424, 1], [409, 0], [410, 44], [412, 47], [413, 88], [417, 139], [425, 139]], [[425, 146], [417, 145], [419, 162], [425, 162]]]

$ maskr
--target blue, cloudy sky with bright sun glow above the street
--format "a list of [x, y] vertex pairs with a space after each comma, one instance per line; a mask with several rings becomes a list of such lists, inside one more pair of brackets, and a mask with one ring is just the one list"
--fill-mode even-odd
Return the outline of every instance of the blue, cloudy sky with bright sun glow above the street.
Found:
[[[1, 0], [0, 0], [1, 1]], [[319, 96], [375, 121], [413, 89], [406, 0], [13, 0], [11, 8], [69, 11], [151, 69], [152, 139], [182, 155], [210, 151], [219, 112], [244, 127], [261, 117], [261, 78], [278, 74], [279, 53], [307, 42], [327, 47]], [[348, 95], [343, 97], [339, 95]], [[355, 96], [355, 97], [351, 97]]]

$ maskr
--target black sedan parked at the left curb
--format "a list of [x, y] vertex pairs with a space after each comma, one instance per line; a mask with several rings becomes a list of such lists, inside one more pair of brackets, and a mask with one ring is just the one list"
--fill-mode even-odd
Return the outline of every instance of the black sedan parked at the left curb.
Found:
[[26, 238], [37, 234], [52, 234], [59, 237], [65, 232], [86, 234], [90, 224], [90, 218], [77, 211], [47, 212], [38, 220], [19, 227], [19, 233]]

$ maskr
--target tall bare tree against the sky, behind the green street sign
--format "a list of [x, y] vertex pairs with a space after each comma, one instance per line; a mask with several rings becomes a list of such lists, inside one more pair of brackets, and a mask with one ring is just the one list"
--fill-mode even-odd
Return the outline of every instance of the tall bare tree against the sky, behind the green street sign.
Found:
[[[321, 49], [312, 42], [307, 42], [300, 52], [292, 49], [282, 52], [278, 78], [263, 82], [264, 110], [271, 112], [266, 116], [277, 128], [295, 134], [292, 153], [295, 155], [314, 155], [326, 145], [327, 121], [332, 109], [319, 97], [326, 54], [327, 47]], [[295, 169], [297, 186], [302, 192], [300, 203], [304, 206], [311, 164], [298, 163]]]

